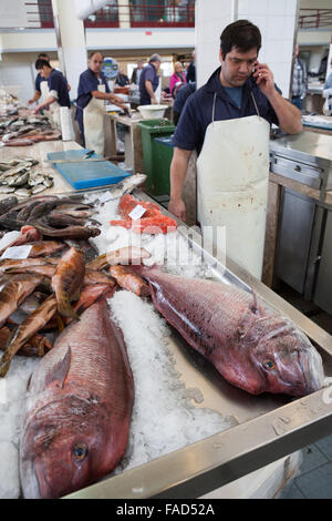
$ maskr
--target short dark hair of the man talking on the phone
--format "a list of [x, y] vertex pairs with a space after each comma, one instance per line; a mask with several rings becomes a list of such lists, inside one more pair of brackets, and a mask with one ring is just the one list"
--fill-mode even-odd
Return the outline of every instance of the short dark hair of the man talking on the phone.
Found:
[[258, 52], [261, 48], [261, 34], [258, 27], [253, 25], [249, 20], [237, 20], [227, 25], [220, 37], [220, 49], [224, 60], [234, 47], [241, 52], [256, 48]]

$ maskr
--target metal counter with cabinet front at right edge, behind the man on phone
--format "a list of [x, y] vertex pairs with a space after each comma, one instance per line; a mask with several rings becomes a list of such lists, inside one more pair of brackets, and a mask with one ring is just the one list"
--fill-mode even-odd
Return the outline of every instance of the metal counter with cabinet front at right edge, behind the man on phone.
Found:
[[331, 137], [303, 132], [276, 140], [270, 159], [274, 182], [276, 175], [287, 180], [280, 182], [276, 275], [332, 313]]

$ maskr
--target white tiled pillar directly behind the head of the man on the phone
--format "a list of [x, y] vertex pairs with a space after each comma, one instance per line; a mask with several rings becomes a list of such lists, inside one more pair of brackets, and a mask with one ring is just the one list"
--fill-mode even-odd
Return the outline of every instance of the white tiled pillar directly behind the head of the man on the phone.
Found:
[[198, 83], [218, 67], [219, 38], [228, 23], [248, 19], [262, 34], [260, 62], [269, 64], [284, 98], [289, 95], [298, 0], [197, 0]]

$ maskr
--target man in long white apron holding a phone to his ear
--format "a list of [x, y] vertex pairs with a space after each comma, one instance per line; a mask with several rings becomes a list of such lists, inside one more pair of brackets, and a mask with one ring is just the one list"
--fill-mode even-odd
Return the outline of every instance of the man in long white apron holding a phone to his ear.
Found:
[[[243, 212], [243, 201], [234, 192], [247, 191], [249, 195], [258, 183], [257, 207], [264, 207], [269, 124], [278, 124], [290, 134], [300, 132], [302, 124], [300, 111], [282, 98], [268, 65], [258, 62], [259, 29], [248, 20], [238, 20], [225, 29], [220, 40], [221, 68], [187, 100], [175, 132], [168, 210], [185, 219], [183, 186], [190, 154], [196, 150], [200, 225], [229, 227], [234, 248], [227, 247], [227, 254], [238, 260], [240, 239], [234, 234], [234, 223], [237, 232], [247, 222], [255, 223], [256, 217], [248, 218], [247, 204]], [[251, 201], [251, 196], [247, 198]], [[218, 222], [219, 210], [229, 202], [231, 212]], [[256, 198], [252, 203], [256, 207]], [[260, 221], [263, 217], [262, 213]]]

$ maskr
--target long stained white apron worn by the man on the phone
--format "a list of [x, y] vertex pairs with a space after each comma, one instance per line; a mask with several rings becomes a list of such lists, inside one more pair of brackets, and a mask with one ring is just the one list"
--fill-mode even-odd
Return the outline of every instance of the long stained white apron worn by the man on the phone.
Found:
[[[214, 237], [222, 235], [217, 226], [226, 226], [226, 255], [261, 278], [270, 125], [259, 115], [214, 121], [215, 106], [216, 95], [197, 160], [198, 221], [201, 227], [214, 227], [206, 228], [209, 236], [214, 229]], [[218, 251], [220, 244], [214, 246]]]

